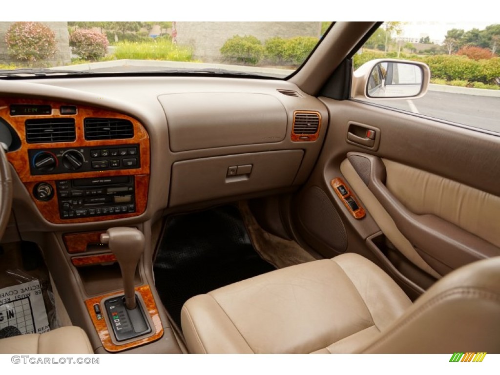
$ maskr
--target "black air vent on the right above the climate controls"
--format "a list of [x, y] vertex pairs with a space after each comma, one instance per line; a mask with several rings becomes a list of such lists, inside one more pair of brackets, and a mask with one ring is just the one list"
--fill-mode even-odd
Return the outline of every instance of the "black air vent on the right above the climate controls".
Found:
[[85, 118], [85, 139], [133, 138], [133, 124], [121, 118]]

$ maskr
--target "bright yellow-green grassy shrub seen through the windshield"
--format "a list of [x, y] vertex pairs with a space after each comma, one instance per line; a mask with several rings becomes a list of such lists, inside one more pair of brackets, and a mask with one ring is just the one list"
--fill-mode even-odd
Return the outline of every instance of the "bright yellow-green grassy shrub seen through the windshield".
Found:
[[167, 39], [151, 40], [149, 38], [149, 41], [143, 42], [117, 43], [114, 57], [117, 59], [192, 61], [192, 50], [188, 47], [177, 46]]

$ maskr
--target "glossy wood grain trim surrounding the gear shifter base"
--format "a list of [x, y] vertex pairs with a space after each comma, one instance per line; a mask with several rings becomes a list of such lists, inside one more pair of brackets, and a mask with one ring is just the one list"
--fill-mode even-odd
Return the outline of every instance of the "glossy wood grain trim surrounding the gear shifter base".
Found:
[[104, 349], [110, 352], [117, 352], [117, 351], [122, 351], [126, 349], [130, 349], [132, 347], [136, 347], [139, 345], [144, 345], [152, 341], [156, 341], [163, 335], [163, 326], [161, 325], [161, 319], [159, 316], [158, 309], [156, 307], [156, 303], [154, 302], [154, 297], [151, 293], [151, 289], [149, 288], [149, 285], [142, 285], [142, 286], [137, 286], [135, 288], [135, 291], [140, 293], [142, 296], [142, 299], [144, 301], [144, 304], [146, 306], [147, 313], [149, 313], [149, 316], [151, 317], [153, 326], [154, 326], [154, 333], [149, 336], [149, 337], [144, 337], [144, 338], [138, 338], [135, 341], [132, 342], [126, 342], [120, 345], [116, 345], [111, 341], [109, 329], [106, 325], [106, 320], [104, 318], [102, 319], [97, 319], [97, 316], [95, 315], [94, 311], [94, 304], [99, 304], [101, 306], [101, 311], [102, 314], [105, 313], [103, 310], [103, 306], [101, 305], [101, 301], [104, 298], [110, 297], [112, 295], [117, 295], [120, 294], [118, 293], [109, 293], [105, 295], [100, 295], [97, 297], [89, 298], [85, 300], [85, 305], [87, 307], [88, 313], [90, 314], [90, 318], [92, 319], [92, 322], [94, 324], [95, 330], [97, 331], [97, 334], [99, 335], [100, 341], [102, 342], [102, 346]]

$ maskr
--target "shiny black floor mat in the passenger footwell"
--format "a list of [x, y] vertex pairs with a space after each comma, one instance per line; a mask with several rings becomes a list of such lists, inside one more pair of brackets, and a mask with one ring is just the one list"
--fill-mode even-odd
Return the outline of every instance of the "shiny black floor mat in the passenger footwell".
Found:
[[154, 278], [179, 327], [180, 309], [193, 295], [275, 269], [253, 249], [235, 206], [176, 215], [165, 225]]

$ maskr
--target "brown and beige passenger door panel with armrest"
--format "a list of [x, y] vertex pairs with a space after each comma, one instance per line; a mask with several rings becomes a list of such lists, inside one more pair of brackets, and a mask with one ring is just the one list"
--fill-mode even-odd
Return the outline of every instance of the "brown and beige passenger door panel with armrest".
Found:
[[[434, 279], [500, 255], [500, 137], [370, 103], [321, 100], [330, 114], [328, 132], [297, 199], [310, 186], [328, 194], [345, 227], [347, 251], [375, 251], [374, 243], [385, 241]], [[354, 144], [348, 138], [352, 123], [376, 128], [378, 149]], [[335, 177], [357, 195], [365, 218], [354, 219], [339, 203], [328, 184]], [[382, 263], [394, 263], [390, 251], [375, 252], [387, 258]], [[404, 278], [410, 267], [396, 268]], [[406, 276], [428, 286], [418, 282], [427, 276], [411, 272]]]

